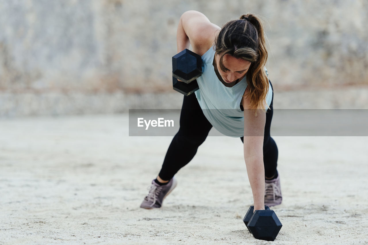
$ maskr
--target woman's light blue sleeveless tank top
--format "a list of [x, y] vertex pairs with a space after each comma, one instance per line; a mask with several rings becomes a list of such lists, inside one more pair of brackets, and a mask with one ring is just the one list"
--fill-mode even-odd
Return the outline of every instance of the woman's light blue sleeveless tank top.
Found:
[[[217, 78], [212, 65], [214, 57], [214, 47], [202, 55], [202, 76], [197, 78], [199, 90], [194, 92], [195, 96], [204, 115], [215, 129], [226, 136], [242, 137], [244, 136], [244, 112], [240, 109], [240, 101], [248, 85], [247, 79], [244, 77], [233, 87], [225, 87]], [[268, 106], [271, 100], [272, 89], [269, 83], [266, 97]]]

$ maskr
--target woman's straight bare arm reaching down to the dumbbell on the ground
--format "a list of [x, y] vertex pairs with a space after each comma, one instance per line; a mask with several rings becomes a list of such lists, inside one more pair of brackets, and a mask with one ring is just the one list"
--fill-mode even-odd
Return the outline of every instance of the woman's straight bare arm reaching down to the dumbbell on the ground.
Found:
[[244, 97], [244, 160], [251, 184], [254, 210], [265, 209], [265, 167], [263, 166], [263, 136], [266, 113], [249, 109], [249, 98]]

